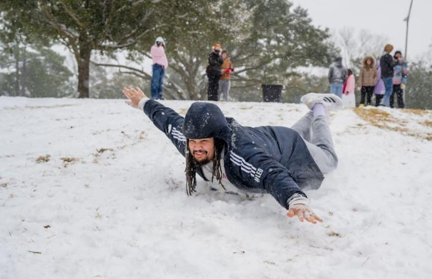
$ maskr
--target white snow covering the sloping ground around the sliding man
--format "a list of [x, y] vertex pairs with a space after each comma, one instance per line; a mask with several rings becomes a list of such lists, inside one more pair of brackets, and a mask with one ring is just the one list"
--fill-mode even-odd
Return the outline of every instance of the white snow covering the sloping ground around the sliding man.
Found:
[[[184, 115], [191, 101], [163, 103]], [[218, 104], [249, 126], [291, 126], [307, 111]], [[387, 111], [426, 129], [424, 116]], [[432, 274], [432, 142], [351, 109], [332, 115], [338, 169], [306, 192], [317, 225], [287, 218], [270, 195], [245, 200], [202, 180], [188, 197], [182, 156], [122, 100], [0, 97], [0, 119], [2, 279]]]

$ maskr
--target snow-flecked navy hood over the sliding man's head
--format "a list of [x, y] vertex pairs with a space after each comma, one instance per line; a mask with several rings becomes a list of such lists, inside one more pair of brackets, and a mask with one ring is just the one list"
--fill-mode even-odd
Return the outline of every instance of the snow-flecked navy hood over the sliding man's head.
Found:
[[183, 122], [186, 138], [218, 137], [227, 144], [231, 141], [231, 130], [221, 109], [213, 103], [194, 102]]

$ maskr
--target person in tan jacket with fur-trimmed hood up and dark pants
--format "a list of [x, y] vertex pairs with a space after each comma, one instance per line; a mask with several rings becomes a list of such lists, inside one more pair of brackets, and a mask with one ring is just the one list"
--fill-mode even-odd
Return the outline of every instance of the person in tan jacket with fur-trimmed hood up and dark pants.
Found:
[[374, 87], [378, 81], [378, 72], [375, 63], [375, 58], [372, 55], [366, 55], [363, 58], [363, 66], [360, 69], [360, 76], [358, 77], [358, 87], [361, 90], [360, 107], [364, 107], [365, 99], [366, 106], [371, 104]]

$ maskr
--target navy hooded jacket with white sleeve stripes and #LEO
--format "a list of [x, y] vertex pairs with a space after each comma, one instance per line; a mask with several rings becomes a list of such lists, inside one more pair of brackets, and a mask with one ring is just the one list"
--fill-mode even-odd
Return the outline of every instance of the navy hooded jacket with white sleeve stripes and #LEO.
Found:
[[[228, 180], [244, 191], [266, 191], [287, 209], [291, 195], [306, 196], [301, 189], [318, 189], [324, 179], [303, 139], [290, 128], [241, 126], [207, 102], [192, 103], [183, 118], [156, 100], [147, 100], [144, 113], [183, 156], [187, 138], [224, 140]], [[201, 167], [197, 166], [196, 172], [206, 180]]]

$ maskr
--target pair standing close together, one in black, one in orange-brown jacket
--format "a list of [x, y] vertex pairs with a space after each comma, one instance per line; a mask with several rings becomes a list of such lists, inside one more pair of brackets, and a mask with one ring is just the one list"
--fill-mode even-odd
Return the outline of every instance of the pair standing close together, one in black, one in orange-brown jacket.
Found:
[[228, 59], [228, 51], [221, 50], [221, 44], [214, 43], [213, 51], [208, 55], [205, 72], [208, 78], [207, 98], [209, 101], [228, 101], [231, 73], [234, 68]]

